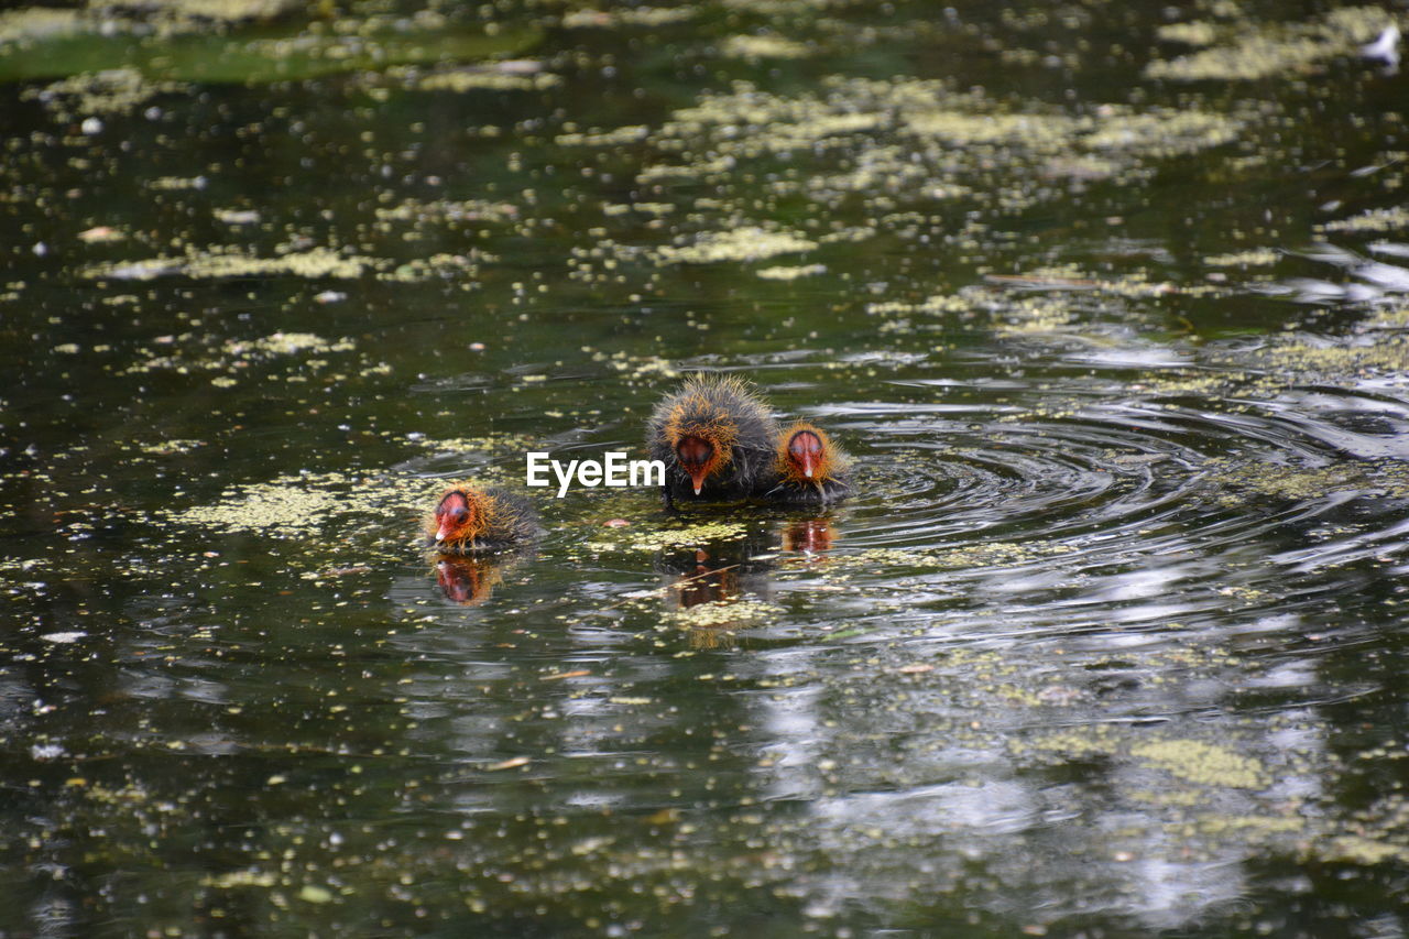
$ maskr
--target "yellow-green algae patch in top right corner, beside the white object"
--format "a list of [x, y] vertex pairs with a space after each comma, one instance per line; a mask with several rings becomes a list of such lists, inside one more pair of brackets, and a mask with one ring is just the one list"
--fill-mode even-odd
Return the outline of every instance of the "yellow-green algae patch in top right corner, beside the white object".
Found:
[[[1250, 82], [1275, 75], [1310, 72], [1326, 61], [1355, 55], [1358, 47], [1375, 38], [1392, 23], [1381, 7], [1333, 10], [1310, 23], [1255, 24], [1239, 20], [1220, 30], [1223, 45], [1212, 45], [1213, 28], [1186, 24], [1198, 31], [1200, 45], [1212, 48], [1175, 59], [1151, 62], [1146, 78], [1181, 82]], [[1171, 27], [1165, 27], [1167, 30]], [[1188, 30], [1186, 34], [1192, 32]]]

